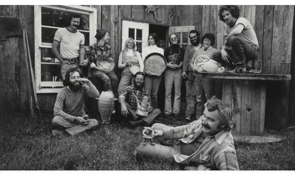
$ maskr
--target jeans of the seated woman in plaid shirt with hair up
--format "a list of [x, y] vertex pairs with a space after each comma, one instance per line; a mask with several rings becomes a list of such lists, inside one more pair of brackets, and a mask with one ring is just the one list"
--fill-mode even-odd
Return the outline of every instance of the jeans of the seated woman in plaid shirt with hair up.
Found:
[[118, 88], [118, 77], [115, 72], [110, 71], [109, 73], [104, 73], [99, 70], [91, 70], [92, 76], [95, 76], [101, 79], [104, 82], [104, 91], [111, 90], [114, 95], [117, 96], [117, 88]]

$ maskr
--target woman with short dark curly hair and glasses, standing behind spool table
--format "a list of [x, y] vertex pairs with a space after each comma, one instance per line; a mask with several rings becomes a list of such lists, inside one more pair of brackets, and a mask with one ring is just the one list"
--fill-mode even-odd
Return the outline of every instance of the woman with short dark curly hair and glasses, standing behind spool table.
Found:
[[[212, 55], [217, 52], [217, 49], [212, 47], [215, 44], [215, 36], [213, 34], [204, 34], [202, 37], [202, 43], [203, 47], [200, 47], [195, 52], [191, 60], [191, 68], [196, 73], [198, 73], [198, 70], [196, 69], [195, 64], [197, 66], [197, 64], [203, 63], [202, 59], [205, 61], [208, 61], [208, 58], [212, 59]], [[185, 112], [185, 119], [191, 121], [196, 103], [197, 106], [195, 118], [199, 119], [199, 117], [202, 115], [203, 103], [206, 102], [205, 100], [202, 100], [202, 94], [205, 92], [207, 100], [214, 96], [214, 83], [215, 80], [212, 78], [195, 77], [192, 85], [191, 96], [187, 104], [187, 110]]]

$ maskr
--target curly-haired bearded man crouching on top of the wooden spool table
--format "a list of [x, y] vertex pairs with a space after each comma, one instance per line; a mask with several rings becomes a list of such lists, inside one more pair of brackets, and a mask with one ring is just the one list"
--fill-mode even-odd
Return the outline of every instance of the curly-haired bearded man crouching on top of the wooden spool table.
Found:
[[250, 22], [240, 17], [238, 6], [220, 6], [219, 19], [226, 23], [225, 42], [222, 49], [213, 54], [213, 59], [228, 66], [233, 73], [251, 70], [251, 61], [258, 58], [258, 40]]

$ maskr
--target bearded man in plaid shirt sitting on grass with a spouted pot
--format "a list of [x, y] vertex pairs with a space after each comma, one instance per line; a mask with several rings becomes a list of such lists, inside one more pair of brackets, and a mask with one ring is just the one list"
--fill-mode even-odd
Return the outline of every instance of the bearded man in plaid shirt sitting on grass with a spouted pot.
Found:
[[[140, 117], [136, 115], [137, 108], [136, 98], [142, 102], [144, 96], [148, 97], [148, 116]], [[124, 118], [132, 118], [132, 121], [128, 121], [130, 127], [135, 127], [145, 123], [145, 125], [151, 124], [151, 122], [161, 113], [160, 109], [153, 109], [151, 107], [151, 96], [147, 89], [144, 88], [144, 73], [137, 72], [134, 76], [134, 85], [125, 87], [119, 96], [119, 103], [121, 105], [121, 115]]]

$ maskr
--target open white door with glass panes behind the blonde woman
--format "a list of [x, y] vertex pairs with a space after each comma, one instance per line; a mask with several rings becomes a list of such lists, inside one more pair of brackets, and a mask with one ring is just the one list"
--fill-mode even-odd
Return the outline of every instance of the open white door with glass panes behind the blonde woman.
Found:
[[143, 47], [148, 46], [148, 23], [122, 21], [122, 51], [128, 38], [133, 38], [136, 42], [137, 51], [141, 55]]

